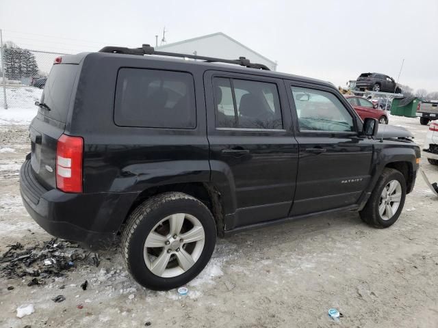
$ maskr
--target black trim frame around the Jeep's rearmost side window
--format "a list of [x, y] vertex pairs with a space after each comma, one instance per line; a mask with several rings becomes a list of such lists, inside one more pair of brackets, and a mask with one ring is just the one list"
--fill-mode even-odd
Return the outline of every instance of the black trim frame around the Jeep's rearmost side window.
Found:
[[[173, 73], [186, 73], [190, 74], [190, 77], [192, 77], [192, 83], [193, 83], [193, 100], [194, 100], [194, 126], [191, 128], [175, 128], [175, 127], [160, 127], [160, 126], [133, 126], [133, 125], [121, 125], [117, 124], [116, 122], [116, 96], [117, 96], [117, 83], [118, 83], [118, 75], [120, 74], [120, 70], [123, 69], [133, 69], [133, 70], [157, 70], [160, 72], [173, 72]], [[120, 66], [117, 70], [116, 74], [116, 83], [114, 83], [114, 99], [113, 99], [113, 106], [112, 106], [112, 120], [114, 122], [115, 126], [118, 126], [120, 128], [153, 128], [153, 129], [159, 129], [159, 130], [165, 130], [165, 129], [172, 129], [172, 130], [182, 130], [182, 131], [193, 131], [198, 128], [198, 105], [196, 104], [196, 83], [194, 81], [194, 75], [192, 72], [186, 71], [186, 70], [168, 70], [168, 69], [162, 69], [162, 68], [149, 68], [149, 67], [137, 67], [137, 66]]]

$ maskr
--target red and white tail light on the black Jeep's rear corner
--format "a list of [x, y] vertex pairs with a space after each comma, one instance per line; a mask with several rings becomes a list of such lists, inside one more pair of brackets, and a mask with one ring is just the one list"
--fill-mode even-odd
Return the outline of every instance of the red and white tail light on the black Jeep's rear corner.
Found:
[[66, 193], [82, 192], [83, 139], [62, 135], [56, 147], [56, 187]]

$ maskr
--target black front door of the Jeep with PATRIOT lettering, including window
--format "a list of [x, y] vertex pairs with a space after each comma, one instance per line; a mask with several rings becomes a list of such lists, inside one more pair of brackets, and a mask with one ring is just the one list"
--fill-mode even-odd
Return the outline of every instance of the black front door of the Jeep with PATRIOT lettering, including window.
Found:
[[290, 215], [354, 207], [370, 182], [372, 160], [359, 118], [330, 87], [291, 81], [287, 88], [299, 145]]

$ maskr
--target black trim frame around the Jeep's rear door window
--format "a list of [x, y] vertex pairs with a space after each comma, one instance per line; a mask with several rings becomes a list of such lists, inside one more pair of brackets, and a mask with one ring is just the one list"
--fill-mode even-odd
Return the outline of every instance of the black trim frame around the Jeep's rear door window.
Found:
[[[276, 81], [270, 80], [268, 77], [261, 77], [257, 79], [257, 77], [241, 77], [237, 74], [213, 74], [211, 75], [211, 87], [214, 90], [214, 79], [215, 78], [222, 78], [222, 79], [228, 79], [230, 81], [230, 87], [231, 87], [231, 94], [233, 96], [233, 107], [234, 107], [234, 115], [236, 118], [237, 124], [239, 123], [239, 115], [237, 113], [237, 101], [235, 100], [235, 91], [234, 91], [234, 82], [233, 80], [243, 80], [243, 81], [252, 81], [252, 82], [260, 82], [260, 83], [270, 83], [275, 85], [276, 92], [279, 99], [279, 106], [280, 106], [280, 115], [281, 115], [281, 128], [226, 128], [226, 127], [220, 127], [217, 126], [218, 123], [218, 116], [217, 114], [217, 106], [218, 103], [216, 102], [216, 95], [213, 92], [213, 104], [214, 104], [214, 127], [216, 131], [242, 131], [242, 132], [286, 132], [285, 126], [284, 126], [284, 115], [283, 115], [283, 107], [281, 106], [281, 97], [280, 97], [280, 91], [279, 91], [279, 83]], [[266, 80], [265, 80], [266, 79]]]

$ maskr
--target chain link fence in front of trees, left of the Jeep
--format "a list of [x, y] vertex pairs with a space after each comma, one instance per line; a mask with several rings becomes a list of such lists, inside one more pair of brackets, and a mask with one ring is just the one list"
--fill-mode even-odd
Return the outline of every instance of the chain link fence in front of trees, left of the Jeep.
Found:
[[2, 44], [0, 51], [0, 108], [31, 109], [40, 100], [42, 89], [56, 57], [53, 53]]

